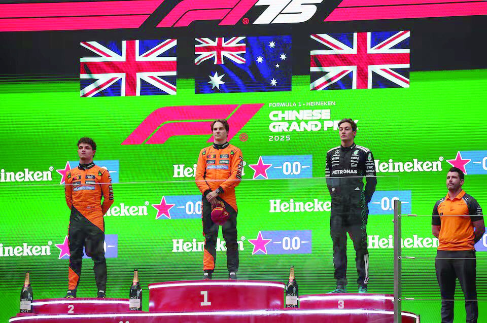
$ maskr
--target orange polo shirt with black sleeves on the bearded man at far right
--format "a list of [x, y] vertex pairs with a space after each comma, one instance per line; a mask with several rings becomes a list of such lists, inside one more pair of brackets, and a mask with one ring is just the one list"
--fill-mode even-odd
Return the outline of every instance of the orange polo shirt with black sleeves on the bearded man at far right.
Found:
[[436, 202], [431, 221], [441, 226], [438, 250], [474, 250], [472, 222], [482, 219], [482, 208], [464, 190], [453, 199], [446, 194]]

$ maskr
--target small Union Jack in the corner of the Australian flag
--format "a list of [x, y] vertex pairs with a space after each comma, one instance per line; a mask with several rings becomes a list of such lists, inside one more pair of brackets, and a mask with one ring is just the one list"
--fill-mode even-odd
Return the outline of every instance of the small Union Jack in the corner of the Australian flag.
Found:
[[197, 55], [194, 59], [196, 65], [213, 57], [215, 57], [214, 64], [224, 64], [223, 57], [227, 57], [237, 64], [245, 64], [245, 57], [240, 55], [245, 54], [246, 44], [240, 43], [245, 40], [245, 37], [232, 37], [227, 41], [223, 37], [195, 38], [195, 40], [199, 43], [194, 45], [194, 53]]

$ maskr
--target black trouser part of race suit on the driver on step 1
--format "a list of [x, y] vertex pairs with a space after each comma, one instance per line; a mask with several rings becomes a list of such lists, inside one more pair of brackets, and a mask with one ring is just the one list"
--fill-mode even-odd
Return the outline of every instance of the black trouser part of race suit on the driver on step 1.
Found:
[[[228, 221], [222, 226], [223, 239], [227, 247], [227, 269], [228, 272], [238, 270], [238, 244], [237, 244], [237, 211], [223, 199], [225, 208], [229, 213]], [[216, 244], [218, 237], [218, 224], [212, 221], [212, 204], [203, 196], [202, 201], [202, 220], [204, 235], [204, 256], [203, 269], [205, 272], [213, 272], [217, 260]]]

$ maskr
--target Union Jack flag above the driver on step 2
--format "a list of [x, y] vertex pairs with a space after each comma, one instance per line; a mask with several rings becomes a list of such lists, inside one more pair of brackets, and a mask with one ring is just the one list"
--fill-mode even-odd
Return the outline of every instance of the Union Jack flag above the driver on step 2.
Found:
[[176, 40], [81, 42], [80, 96], [176, 94]]

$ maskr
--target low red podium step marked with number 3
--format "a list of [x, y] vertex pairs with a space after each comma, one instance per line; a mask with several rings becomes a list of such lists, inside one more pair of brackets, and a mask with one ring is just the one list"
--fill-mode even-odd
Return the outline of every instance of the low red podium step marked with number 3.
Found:
[[301, 309], [394, 310], [394, 296], [384, 294], [322, 294], [299, 297]]

